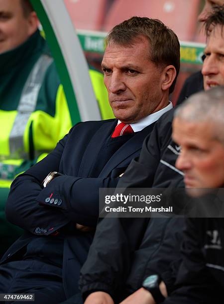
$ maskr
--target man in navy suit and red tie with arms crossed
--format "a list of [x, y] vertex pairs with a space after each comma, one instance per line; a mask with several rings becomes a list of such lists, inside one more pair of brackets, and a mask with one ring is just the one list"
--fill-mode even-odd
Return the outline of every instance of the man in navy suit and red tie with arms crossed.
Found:
[[77, 292], [94, 234], [82, 229], [96, 226], [99, 188], [116, 186], [154, 122], [172, 107], [179, 65], [178, 38], [162, 22], [132, 17], [112, 29], [102, 68], [116, 119], [77, 124], [14, 180], [6, 216], [25, 234], [1, 259], [0, 293], [60, 303]]

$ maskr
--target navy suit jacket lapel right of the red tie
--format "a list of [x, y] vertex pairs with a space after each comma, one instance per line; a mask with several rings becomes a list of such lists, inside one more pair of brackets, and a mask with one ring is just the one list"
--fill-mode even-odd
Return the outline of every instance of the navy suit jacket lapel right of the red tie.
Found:
[[134, 154], [141, 149], [145, 137], [151, 133], [153, 126], [154, 123], [137, 132], [129, 141], [123, 144], [109, 159], [99, 177], [108, 176], [112, 169], [126, 158], [132, 159], [135, 156]]

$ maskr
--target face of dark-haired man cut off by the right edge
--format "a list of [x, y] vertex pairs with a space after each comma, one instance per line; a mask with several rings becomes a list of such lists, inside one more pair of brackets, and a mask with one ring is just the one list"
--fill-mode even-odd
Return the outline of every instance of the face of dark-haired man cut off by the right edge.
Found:
[[205, 55], [202, 67], [204, 89], [209, 90], [214, 86], [224, 85], [224, 36], [220, 25], [212, 30]]

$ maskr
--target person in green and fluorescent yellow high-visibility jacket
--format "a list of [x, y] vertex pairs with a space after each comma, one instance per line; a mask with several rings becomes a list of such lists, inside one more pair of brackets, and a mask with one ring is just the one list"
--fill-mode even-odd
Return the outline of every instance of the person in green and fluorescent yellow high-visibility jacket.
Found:
[[[102, 118], [112, 118], [103, 74], [90, 69], [90, 76]], [[4, 217], [12, 180], [51, 152], [72, 127], [63, 86], [29, 0], [0, 0], [0, 122], [1, 255], [21, 233]]]

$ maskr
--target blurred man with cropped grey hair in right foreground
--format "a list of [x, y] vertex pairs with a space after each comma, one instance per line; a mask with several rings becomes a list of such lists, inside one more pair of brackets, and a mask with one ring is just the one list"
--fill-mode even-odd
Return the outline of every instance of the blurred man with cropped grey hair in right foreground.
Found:
[[[224, 187], [224, 87], [198, 93], [176, 111], [173, 139], [190, 195]], [[223, 231], [223, 218], [187, 219], [175, 291], [164, 303], [223, 303]]]

